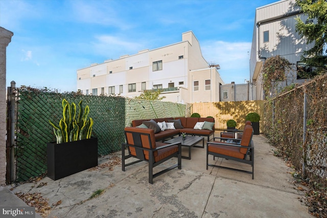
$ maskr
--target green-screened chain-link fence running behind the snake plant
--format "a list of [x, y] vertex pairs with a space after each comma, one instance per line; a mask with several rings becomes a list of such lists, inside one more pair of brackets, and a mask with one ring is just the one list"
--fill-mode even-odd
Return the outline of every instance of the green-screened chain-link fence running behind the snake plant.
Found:
[[185, 105], [112, 96], [85, 96], [77, 93], [50, 93], [39, 90], [17, 92], [16, 181], [46, 174], [46, 143], [55, 141], [49, 120], [62, 117], [62, 99], [83, 100], [94, 119], [92, 135], [98, 137], [98, 155], [119, 151], [125, 141], [124, 127], [134, 119], [185, 116]]

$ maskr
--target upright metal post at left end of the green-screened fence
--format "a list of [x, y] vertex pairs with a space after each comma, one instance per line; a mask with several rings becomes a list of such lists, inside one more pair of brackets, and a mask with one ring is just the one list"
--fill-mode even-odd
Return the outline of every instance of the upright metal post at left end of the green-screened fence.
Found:
[[16, 82], [11, 81], [11, 105], [10, 105], [10, 117], [11, 117], [11, 132], [10, 132], [10, 181], [13, 182], [15, 180], [15, 125], [16, 125], [16, 116], [15, 116], [15, 90], [16, 90]]

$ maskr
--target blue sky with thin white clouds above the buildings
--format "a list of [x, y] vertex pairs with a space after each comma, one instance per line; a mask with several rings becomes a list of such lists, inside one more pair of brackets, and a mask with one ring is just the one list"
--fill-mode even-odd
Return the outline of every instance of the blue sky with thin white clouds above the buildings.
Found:
[[181, 41], [192, 30], [225, 83], [249, 79], [255, 8], [273, 0], [2, 0], [7, 86], [76, 91], [76, 71]]

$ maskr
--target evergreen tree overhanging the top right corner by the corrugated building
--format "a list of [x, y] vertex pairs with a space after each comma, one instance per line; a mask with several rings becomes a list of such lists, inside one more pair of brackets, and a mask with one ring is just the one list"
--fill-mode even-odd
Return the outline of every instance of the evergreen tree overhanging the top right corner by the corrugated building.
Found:
[[296, 5], [307, 15], [307, 20], [296, 18], [296, 32], [307, 39], [307, 43], [314, 46], [304, 51], [301, 61], [316, 67], [316, 71], [309, 72], [309, 77], [320, 74], [327, 66], [327, 1], [325, 0], [296, 0]]

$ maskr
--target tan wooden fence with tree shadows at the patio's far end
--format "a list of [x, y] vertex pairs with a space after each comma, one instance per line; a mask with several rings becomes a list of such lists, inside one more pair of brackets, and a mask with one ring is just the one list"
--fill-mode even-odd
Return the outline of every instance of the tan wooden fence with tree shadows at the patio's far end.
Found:
[[215, 118], [215, 128], [225, 129], [229, 119], [235, 120], [236, 128], [243, 128], [245, 117], [250, 112], [258, 113], [260, 123], [264, 123], [264, 101], [222, 101], [222, 102], [198, 102], [193, 103], [193, 113], [199, 113], [201, 117], [212, 116]]

